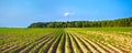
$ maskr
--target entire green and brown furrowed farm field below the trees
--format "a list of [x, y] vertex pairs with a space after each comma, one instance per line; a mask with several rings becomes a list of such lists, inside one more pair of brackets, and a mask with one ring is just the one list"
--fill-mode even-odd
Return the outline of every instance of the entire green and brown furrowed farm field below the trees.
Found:
[[132, 28], [0, 29], [0, 53], [132, 53]]

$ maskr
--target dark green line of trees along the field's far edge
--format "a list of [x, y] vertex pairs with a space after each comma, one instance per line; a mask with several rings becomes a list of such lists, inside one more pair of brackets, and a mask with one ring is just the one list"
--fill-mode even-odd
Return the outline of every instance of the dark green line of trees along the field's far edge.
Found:
[[67, 22], [36, 22], [29, 28], [105, 28], [132, 26], [132, 17], [103, 21], [67, 21]]

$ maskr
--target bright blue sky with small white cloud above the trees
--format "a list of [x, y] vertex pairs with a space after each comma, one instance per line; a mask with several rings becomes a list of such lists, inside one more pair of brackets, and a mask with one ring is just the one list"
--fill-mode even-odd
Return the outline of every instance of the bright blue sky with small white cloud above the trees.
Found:
[[132, 0], [0, 0], [0, 26], [132, 17]]

